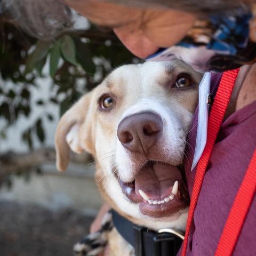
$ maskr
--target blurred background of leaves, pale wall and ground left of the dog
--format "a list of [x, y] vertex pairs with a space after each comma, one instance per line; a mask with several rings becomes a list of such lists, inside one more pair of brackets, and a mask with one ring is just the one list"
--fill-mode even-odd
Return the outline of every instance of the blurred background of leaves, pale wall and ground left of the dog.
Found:
[[50, 41], [0, 16], [0, 255], [72, 255], [101, 198], [93, 159], [55, 169], [60, 116], [115, 67], [138, 63], [111, 31], [73, 13]]

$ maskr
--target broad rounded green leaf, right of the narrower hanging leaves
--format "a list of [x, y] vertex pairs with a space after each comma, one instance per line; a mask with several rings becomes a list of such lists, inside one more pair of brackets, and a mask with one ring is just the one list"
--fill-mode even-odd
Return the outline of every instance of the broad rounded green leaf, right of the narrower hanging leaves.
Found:
[[60, 39], [62, 57], [72, 65], [77, 65], [76, 46], [71, 36], [65, 35]]

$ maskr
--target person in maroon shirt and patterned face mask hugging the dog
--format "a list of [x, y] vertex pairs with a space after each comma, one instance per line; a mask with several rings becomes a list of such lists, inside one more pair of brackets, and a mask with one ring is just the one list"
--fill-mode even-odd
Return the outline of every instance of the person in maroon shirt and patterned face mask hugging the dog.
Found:
[[[140, 58], [158, 61], [178, 58], [197, 70], [219, 72], [212, 74], [212, 90], [218, 87], [221, 72], [239, 67], [225, 119], [207, 166], [187, 247], [187, 255], [213, 255], [256, 146], [256, 1], [2, 2], [7, 3], [21, 26], [31, 34], [44, 37], [47, 33], [47, 36], [58, 34], [64, 21], [68, 23], [65, 6], [71, 7], [92, 22], [113, 28], [127, 49]], [[55, 26], [51, 28], [52, 25], [45, 23], [42, 13], [54, 20], [59, 19], [59, 23], [51, 22]], [[197, 117], [196, 114], [192, 125], [196, 124]], [[190, 195], [196, 172], [195, 169], [190, 171], [195, 138], [196, 129], [191, 129], [187, 139], [191, 147], [187, 148], [189, 157], [185, 159]], [[99, 227], [99, 219], [107, 209], [107, 205], [103, 206], [91, 231]], [[254, 196], [234, 255], [256, 255], [255, 216]]]

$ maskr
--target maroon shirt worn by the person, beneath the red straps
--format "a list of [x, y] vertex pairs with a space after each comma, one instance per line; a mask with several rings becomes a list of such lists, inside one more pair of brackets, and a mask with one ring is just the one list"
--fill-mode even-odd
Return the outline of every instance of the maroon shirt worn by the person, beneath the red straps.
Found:
[[[213, 90], [218, 86], [220, 78], [221, 75], [212, 75], [211, 87]], [[198, 111], [196, 111], [191, 127], [195, 127], [197, 119]], [[196, 173], [196, 167], [192, 172], [190, 171], [196, 143], [196, 130], [195, 128], [189, 133], [188, 143], [191, 147], [188, 146], [186, 149], [190, 156], [188, 157], [189, 161], [186, 160], [185, 163], [190, 196]], [[186, 255], [214, 255], [255, 147], [256, 101], [235, 111], [221, 125], [198, 197]], [[255, 197], [233, 255], [256, 255]]]

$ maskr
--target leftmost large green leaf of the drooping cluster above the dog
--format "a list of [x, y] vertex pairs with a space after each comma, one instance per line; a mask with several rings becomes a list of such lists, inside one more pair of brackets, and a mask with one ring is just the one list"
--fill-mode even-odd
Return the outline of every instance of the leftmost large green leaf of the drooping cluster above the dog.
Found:
[[37, 41], [34, 52], [26, 60], [25, 74], [31, 72], [36, 67], [36, 63], [46, 57], [50, 45], [51, 42], [49, 41]]

